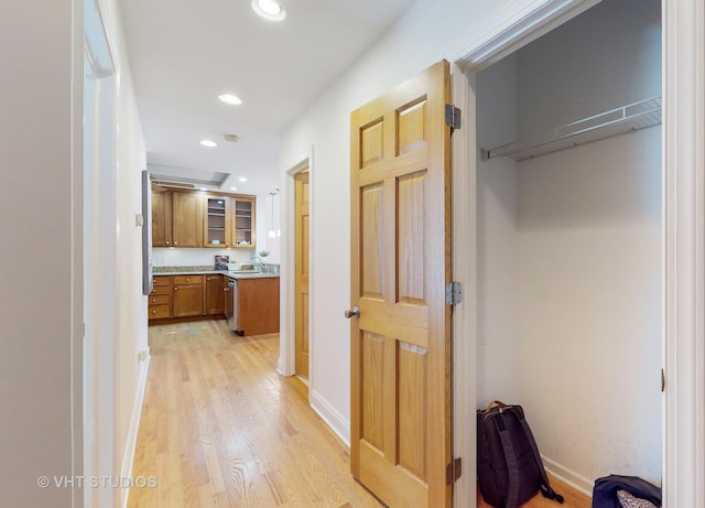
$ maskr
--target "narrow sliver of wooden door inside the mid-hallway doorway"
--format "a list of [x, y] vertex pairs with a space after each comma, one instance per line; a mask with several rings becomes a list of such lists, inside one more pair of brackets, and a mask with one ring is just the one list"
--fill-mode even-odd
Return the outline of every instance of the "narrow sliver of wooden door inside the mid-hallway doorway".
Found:
[[296, 173], [296, 374], [308, 378], [308, 172]]

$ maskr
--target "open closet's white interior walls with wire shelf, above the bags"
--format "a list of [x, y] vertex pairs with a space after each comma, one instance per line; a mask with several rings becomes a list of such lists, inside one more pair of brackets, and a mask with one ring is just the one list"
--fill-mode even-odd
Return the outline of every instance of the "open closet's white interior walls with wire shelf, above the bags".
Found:
[[523, 406], [546, 467], [662, 466], [661, 2], [604, 0], [481, 71], [477, 406]]

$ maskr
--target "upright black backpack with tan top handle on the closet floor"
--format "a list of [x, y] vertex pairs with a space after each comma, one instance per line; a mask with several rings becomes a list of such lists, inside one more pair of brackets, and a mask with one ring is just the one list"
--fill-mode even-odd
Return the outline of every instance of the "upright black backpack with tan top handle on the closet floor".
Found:
[[497, 508], [516, 508], [539, 490], [563, 502], [551, 488], [521, 406], [496, 400], [477, 411], [477, 479], [485, 501]]

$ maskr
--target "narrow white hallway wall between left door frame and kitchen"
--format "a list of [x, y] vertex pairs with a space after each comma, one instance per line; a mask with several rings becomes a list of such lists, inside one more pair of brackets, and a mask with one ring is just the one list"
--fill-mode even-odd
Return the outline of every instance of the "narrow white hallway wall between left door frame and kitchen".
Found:
[[[127, 57], [118, 2], [105, 2], [105, 22], [117, 71], [116, 184], [117, 184], [117, 285], [118, 328], [116, 337], [116, 461], [117, 474], [132, 467], [132, 448], [147, 377], [140, 352], [149, 352], [147, 296], [142, 295], [142, 228], [135, 216], [142, 213], [141, 171], [147, 169], [142, 126], [137, 110], [132, 76]], [[109, 269], [109, 268], [108, 268]], [[121, 493], [123, 496], [126, 491]]]

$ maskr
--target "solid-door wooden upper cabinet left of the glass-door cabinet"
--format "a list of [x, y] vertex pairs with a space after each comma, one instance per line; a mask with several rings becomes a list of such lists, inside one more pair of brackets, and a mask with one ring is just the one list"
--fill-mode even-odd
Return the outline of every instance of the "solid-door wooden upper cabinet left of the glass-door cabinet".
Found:
[[195, 192], [152, 191], [152, 246], [200, 247], [200, 195]]

